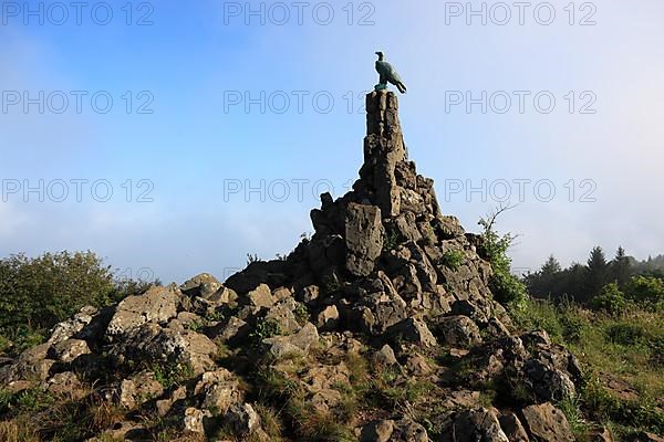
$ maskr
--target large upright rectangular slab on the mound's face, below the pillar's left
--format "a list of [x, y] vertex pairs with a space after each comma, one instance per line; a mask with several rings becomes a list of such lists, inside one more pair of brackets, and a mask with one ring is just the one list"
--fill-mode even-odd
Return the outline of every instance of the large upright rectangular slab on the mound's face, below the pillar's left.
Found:
[[381, 210], [375, 206], [349, 204], [345, 222], [346, 269], [356, 276], [369, 276], [383, 251]]

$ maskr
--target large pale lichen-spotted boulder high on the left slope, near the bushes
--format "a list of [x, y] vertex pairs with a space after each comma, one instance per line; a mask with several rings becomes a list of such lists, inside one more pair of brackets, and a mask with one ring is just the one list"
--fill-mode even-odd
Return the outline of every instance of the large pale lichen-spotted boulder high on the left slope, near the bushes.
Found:
[[117, 305], [106, 328], [106, 339], [116, 340], [146, 323], [167, 323], [177, 315], [179, 297], [179, 290], [175, 286], [153, 286], [143, 295], [127, 296]]

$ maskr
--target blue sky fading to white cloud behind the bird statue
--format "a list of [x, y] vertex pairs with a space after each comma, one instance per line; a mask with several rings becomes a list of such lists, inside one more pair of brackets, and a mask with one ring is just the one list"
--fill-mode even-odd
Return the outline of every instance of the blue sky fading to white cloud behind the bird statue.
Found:
[[378, 49], [408, 86], [406, 144], [445, 213], [474, 231], [525, 191], [498, 225], [521, 234], [516, 267], [585, 261], [595, 244], [657, 254], [664, 3], [632, 3], [532, 2], [520, 24], [511, 2], [471, 2], [483, 24], [466, 2], [110, 1], [84, 2], [79, 25], [69, 2], [3, 2], [0, 255], [93, 250], [181, 282], [287, 253], [314, 194], [356, 178]]

